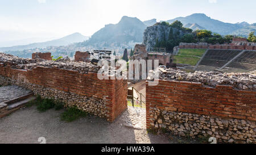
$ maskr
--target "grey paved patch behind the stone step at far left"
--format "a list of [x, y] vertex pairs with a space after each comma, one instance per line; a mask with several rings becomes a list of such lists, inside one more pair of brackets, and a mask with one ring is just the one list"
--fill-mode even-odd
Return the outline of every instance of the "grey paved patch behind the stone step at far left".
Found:
[[20, 96], [31, 93], [30, 90], [19, 86], [3, 86], [0, 87], [0, 103], [6, 100], [18, 98]]

